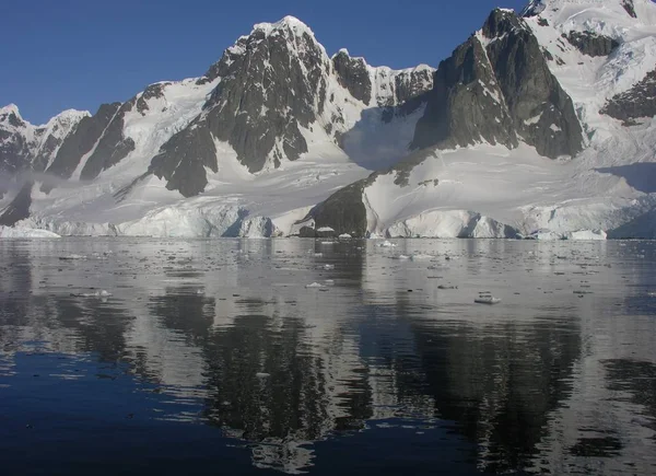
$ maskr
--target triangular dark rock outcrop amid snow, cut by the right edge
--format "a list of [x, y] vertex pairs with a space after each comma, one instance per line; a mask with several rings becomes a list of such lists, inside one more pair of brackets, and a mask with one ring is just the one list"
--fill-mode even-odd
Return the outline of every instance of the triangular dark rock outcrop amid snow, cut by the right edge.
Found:
[[629, 91], [611, 97], [600, 112], [625, 125], [640, 117], [656, 116], [656, 70], [648, 72]]

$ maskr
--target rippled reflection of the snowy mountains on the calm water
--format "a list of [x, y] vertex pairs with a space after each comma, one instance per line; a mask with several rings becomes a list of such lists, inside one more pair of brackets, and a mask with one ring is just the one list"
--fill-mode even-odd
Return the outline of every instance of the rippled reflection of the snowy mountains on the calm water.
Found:
[[[480, 309], [419, 288], [427, 281], [414, 277], [417, 264], [351, 245], [315, 256], [320, 249], [307, 242], [237, 243], [159, 243], [156, 252], [132, 243], [112, 259], [74, 264], [1, 247], [0, 345], [8, 352], [38, 339], [128, 363], [162, 392], [202, 405], [202, 419], [246, 442], [255, 465], [285, 472], [312, 465], [313, 442], [391, 418], [449, 426], [477, 444], [471, 458], [492, 473], [553, 471], [536, 462], [602, 457], [605, 448], [617, 455], [628, 451], [630, 419], [605, 439], [585, 439], [567, 423], [577, 411], [567, 407], [598, 387], [630, 394], [654, 429], [656, 408], [644, 396], [654, 391], [653, 364], [608, 361], [600, 370], [608, 388], [576, 385], [597, 318], [576, 295], [481, 321]], [[460, 245], [452, 246], [455, 256]], [[485, 260], [489, 245], [481, 246], [427, 272], [484, 281], [502, 265]], [[551, 260], [530, 259], [525, 266], [539, 279], [553, 275]], [[337, 270], [327, 274], [325, 263]], [[71, 295], [99, 274], [115, 280], [115, 298]], [[336, 281], [328, 292], [304, 287], [324, 279]]]

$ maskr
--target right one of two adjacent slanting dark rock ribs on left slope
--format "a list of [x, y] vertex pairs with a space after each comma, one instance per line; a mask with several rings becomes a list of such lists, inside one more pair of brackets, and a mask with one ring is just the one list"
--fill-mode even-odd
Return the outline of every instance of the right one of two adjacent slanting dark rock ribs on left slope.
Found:
[[134, 141], [129, 137], [124, 137], [124, 126], [126, 113], [132, 111], [136, 102], [137, 100], [131, 100], [125, 103], [114, 115], [95, 150], [86, 160], [80, 173], [80, 179], [90, 181], [97, 177], [102, 171], [116, 165], [134, 150]]

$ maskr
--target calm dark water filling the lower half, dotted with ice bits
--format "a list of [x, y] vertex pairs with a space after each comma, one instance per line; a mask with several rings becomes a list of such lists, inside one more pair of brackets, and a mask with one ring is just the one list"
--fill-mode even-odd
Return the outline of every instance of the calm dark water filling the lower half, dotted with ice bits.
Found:
[[397, 243], [1, 241], [2, 474], [656, 474], [654, 244]]

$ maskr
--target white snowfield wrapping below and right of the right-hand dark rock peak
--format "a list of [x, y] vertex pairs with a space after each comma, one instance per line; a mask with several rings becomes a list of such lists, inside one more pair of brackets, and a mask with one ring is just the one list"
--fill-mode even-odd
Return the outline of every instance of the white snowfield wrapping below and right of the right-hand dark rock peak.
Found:
[[[620, 0], [534, 3], [541, 13], [525, 21], [553, 57], [549, 67], [573, 98], [586, 149], [571, 161], [542, 158], [525, 144], [434, 150], [364, 187], [367, 233], [599, 239], [620, 229], [653, 236], [656, 120], [626, 127], [600, 109], [656, 68], [656, 5], [635, 2], [633, 19]], [[619, 46], [589, 57], [563, 38], [572, 31], [610, 35]]]

